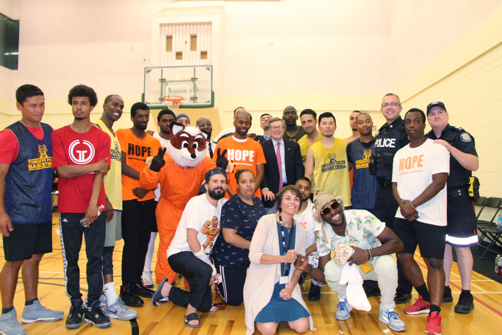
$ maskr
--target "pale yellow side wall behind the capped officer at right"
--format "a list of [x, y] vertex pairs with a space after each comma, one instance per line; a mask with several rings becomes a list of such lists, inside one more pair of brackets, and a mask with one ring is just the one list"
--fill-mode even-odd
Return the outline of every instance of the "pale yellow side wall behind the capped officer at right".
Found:
[[[502, 11], [396, 89], [404, 92], [408, 109], [425, 110], [428, 103], [443, 101], [450, 124], [475, 138], [479, 169], [474, 175], [487, 197], [502, 196], [502, 41], [496, 31], [502, 31]], [[484, 214], [491, 218], [490, 211]]]

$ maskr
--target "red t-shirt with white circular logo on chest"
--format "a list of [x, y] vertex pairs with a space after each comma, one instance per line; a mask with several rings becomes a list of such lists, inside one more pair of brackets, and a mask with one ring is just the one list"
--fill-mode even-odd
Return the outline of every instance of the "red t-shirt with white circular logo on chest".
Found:
[[[91, 127], [87, 133], [77, 133], [66, 126], [52, 132], [52, 167], [63, 165], [88, 165], [108, 158], [110, 164], [110, 137], [96, 127]], [[58, 180], [58, 212], [60, 213], [85, 213], [92, 195], [94, 172], [75, 178], [62, 178]], [[104, 200], [104, 185], [97, 206], [106, 207]]]

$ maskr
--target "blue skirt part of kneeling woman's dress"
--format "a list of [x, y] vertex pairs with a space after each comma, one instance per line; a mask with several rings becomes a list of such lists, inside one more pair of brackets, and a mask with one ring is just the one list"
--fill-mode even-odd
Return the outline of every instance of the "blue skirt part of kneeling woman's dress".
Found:
[[274, 285], [274, 292], [269, 303], [263, 307], [255, 318], [255, 322], [283, 322], [294, 321], [300, 317], [309, 317], [310, 313], [298, 301], [291, 298], [283, 300], [279, 296], [279, 292], [284, 288], [283, 284], [277, 282]]

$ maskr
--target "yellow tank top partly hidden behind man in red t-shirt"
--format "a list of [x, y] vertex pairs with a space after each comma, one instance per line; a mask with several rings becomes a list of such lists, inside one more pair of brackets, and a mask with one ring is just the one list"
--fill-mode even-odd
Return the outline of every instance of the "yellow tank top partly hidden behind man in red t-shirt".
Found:
[[110, 169], [104, 175], [104, 192], [108, 197], [114, 210], [122, 210], [122, 153], [120, 144], [116, 136], [113, 136], [108, 127], [100, 120], [94, 122], [103, 132], [108, 134], [111, 139], [110, 144]]

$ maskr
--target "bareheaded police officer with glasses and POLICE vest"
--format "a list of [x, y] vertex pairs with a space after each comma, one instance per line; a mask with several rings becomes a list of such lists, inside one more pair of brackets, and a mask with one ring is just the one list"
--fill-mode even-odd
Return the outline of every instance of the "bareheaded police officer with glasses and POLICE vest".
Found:
[[[380, 188], [376, 193], [374, 215], [392, 229], [398, 204], [392, 195], [392, 162], [396, 152], [410, 143], [406, 134], [405, 123], [400, 116], [401, 101], [394, 93], [387, 93], [382, 100], [382, 115], [387, 120], [380, 129], [374, 142], [374, 151], [370, 171], [375, 174]], [[380, 294], [376, 283], [365, 282], [364, 291], [367, 296]], [[405, 303], [411, 299], [412, 285], [408, 282], [398, 263], [398, 288], [394, 300]]]

